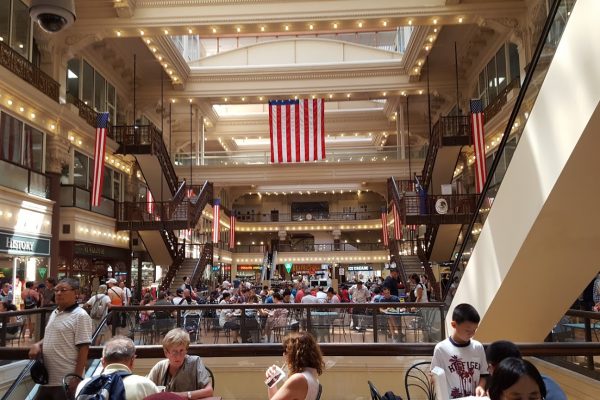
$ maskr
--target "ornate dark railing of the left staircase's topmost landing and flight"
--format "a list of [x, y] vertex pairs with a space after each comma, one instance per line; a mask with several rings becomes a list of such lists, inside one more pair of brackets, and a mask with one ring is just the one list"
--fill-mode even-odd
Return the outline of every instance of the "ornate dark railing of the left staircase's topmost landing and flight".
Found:
[[158, 159], [171, 194], [179, 188], [177, 174], [165, 146], [162, 132], [154, 125], [113, 126], [113, 137], [124, 154], [153, 154]]

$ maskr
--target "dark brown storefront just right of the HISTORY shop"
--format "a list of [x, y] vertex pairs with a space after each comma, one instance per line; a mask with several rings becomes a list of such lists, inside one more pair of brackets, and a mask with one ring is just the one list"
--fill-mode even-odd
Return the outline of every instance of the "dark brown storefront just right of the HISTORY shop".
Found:
[[90, 293], [109, 278], [128, 280], [131, 273], [129, 249], [83, 242], [60, 242], [60, 258], [58, 277], [77, 278], [82, 288], [91, 288]]

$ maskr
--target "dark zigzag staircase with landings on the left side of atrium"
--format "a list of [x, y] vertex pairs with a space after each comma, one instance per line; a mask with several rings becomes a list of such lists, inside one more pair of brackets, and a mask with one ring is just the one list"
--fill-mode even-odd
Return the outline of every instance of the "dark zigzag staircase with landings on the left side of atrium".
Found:
[[117, 152], [135, 156], [154, 200], [119, 203], [117, 229], [137, 231], [153, 262], [169, 266], [163, 278], [163, 287], [168, 288], [185, 254], [174, 231], [195, 227], [204, 207], [212, 202], [212, 184], [179, 182], [162, 133], [154, 125], [115, 126], [112, 131], [119, 143]]

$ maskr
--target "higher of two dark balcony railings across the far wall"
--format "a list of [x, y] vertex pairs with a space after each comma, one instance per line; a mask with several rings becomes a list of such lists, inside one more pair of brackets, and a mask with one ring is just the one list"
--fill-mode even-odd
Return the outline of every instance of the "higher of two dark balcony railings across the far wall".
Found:
[[314, 222], [314, 221], [366, 221], [381, 218], [381, 211], [356, 212], [301, 212], [291, 214], [258, 213], [238, 214], [238, 222]]

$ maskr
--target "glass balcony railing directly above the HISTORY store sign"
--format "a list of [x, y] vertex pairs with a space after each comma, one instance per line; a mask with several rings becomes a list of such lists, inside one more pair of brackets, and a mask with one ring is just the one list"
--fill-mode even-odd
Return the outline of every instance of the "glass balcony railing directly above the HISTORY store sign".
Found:
[[49, 180], [46, 175], [4, 160], [0, 160], [0, 170], [0, 186], [48, 198]]

